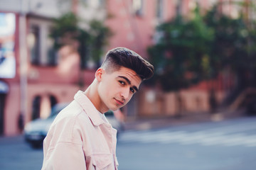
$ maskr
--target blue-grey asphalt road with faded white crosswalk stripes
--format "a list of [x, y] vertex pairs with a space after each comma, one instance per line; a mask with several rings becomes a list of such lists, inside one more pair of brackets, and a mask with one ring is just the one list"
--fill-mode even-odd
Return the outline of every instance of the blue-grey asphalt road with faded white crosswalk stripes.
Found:
[[[130, 130], [117, 144], [119, 170], [255, 170], [256, 118]], [[41, 169], [43, 150], [0, 137], [0, 169]]]

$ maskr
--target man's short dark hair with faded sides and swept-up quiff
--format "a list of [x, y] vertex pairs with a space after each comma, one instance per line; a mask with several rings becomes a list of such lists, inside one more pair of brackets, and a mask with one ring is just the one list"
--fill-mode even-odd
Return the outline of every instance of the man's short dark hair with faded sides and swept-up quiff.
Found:
[[151, 78], [154, 74], [153, 65], [125, 47], [117, 47], [108, 51], [102, 67], [106, 69], [106, 72], [117, 71], [120, 67], [132, 69], [142, 81]]

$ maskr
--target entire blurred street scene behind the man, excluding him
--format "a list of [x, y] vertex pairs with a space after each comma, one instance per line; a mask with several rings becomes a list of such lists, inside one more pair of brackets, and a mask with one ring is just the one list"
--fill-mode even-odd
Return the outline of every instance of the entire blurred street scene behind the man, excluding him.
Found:
[[119, 169], [253, 169], [255, 21], [255, 0], [1, 0], [0, 169], [41, 169], [48, 117], [114, 47], [155, 68], [109, 113]]

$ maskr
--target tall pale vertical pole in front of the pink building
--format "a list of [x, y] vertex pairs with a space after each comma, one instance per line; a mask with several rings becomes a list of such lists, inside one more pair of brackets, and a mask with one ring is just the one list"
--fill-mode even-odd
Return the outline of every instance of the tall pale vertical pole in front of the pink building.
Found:
[[27, 0], [21, 0], [21, 13], [19, 15], [19, 69], [20, 69], [20, 116], [23, 120], [23, 124], [26, 122], [27, 114], [27, 74], [28, 74], [28, 52], [26, 42], [26, 4]]

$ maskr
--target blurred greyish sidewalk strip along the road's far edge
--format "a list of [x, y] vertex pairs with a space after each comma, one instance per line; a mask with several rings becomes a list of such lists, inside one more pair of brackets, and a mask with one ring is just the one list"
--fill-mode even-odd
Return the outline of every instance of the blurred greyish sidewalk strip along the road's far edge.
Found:
[[127, 120], [124, 123], [124, 130], [150, 130], [176, 125], [228, 120], [243, 116], [245, 116], [244, 111], [238, 110], [222, 111], [218, 113], [186, 113], [180, 118], [175, 118], [174, 116], [166, 116], [163, 118], [137, 118], [136, 120]]

